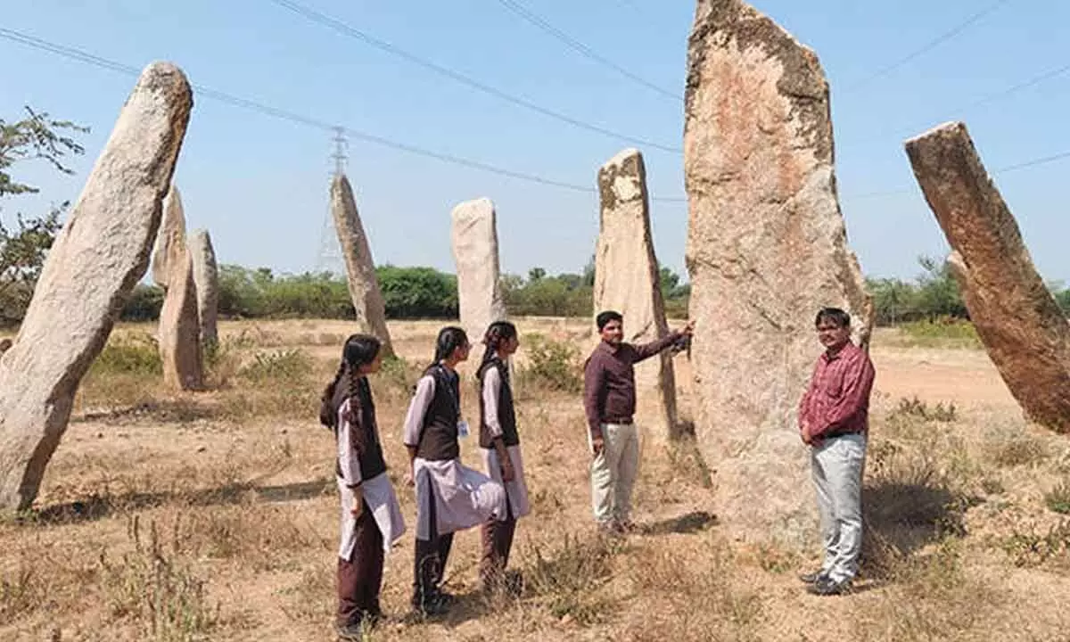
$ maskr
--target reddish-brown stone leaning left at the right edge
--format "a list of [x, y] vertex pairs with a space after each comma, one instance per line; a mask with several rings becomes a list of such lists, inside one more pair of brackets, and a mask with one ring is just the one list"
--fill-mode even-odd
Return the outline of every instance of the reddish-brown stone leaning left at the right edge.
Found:
[[969, 319], [1011, 394], [1034, 422], [1070, 432], [1070, 325], [984, 170], [966, 126], [906, 141], [914, 175], [953, 253]]

